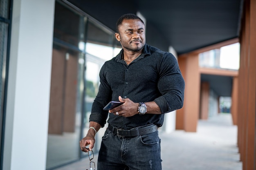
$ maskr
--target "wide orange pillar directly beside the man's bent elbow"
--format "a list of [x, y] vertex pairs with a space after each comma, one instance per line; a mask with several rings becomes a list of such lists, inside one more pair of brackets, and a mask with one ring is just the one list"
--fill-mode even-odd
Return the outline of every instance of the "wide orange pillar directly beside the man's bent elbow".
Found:
[[[200, 104], [200, 73], [198, 54], [179, 57], [178, 62], [185, 80], [184, 107], [177, 110], [176, 128], [196, 132]], [[193, 101], [193, 102], [191, 102]]]

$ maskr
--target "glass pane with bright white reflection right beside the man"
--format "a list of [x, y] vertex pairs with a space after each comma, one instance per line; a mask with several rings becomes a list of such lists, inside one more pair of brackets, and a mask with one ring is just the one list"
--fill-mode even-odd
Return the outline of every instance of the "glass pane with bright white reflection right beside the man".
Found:
[[[83, 121], [83, 137], [87, 134], [89, 128], [89, 117], [92, 108], [92, 102], [99, 89], [99, 71], [101, 66], [107, 60], [115, 56], [114, 51], [114, 32], [101, 28], [92, 20], [88, 21], [87, 42], [85, 44], [86, 52], [86, 93], [85, 93], [85, 116]], [[97, 133], [96, 145], [94, 150], [99, 150], [101, 137], [104, 130]], [[86, 155], [83, 153], [83, 155]]]

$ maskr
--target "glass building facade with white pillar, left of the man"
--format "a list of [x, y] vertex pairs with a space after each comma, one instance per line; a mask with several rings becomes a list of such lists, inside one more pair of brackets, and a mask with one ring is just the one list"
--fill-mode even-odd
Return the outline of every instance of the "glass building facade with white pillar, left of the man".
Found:
[[[79, 141], [100, 68], [121, 50], [115, 31], [69, 2], [0, 2], [1, 71], [8, 78], [1, 82], [0, 169], [50, 170], [87, 156]], [[166, 119], [173, 123], [163, 129], [174, 130], [175, 112]]]

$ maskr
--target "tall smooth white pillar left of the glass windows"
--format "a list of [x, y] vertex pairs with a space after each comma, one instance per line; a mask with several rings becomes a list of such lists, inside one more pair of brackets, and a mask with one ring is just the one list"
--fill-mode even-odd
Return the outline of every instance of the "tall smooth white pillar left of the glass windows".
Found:
[[55, 0], [13, 0], [3, 170], [45, 170]]

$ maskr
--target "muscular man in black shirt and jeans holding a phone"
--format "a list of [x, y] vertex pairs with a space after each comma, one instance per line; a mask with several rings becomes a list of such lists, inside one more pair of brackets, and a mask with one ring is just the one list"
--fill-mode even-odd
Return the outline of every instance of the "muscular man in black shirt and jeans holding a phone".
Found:
[[116, 29], [123, 49], [101, 68], [90, 128], [80, 147], [92, 150], [96, 132], [108, 117], [103, 107], [120, 101], [124, 104], [109, 110], [98, 170], [162, 170], [157, 128], [165, 113], [182, 108], [184, 79], [171, 53], [146, 44], [144, 22], [137, 15], [121, 16]]

